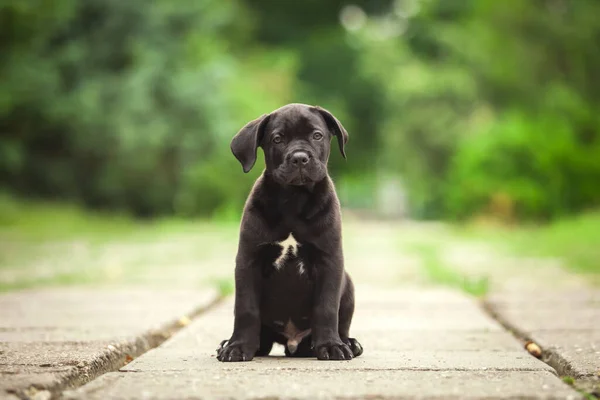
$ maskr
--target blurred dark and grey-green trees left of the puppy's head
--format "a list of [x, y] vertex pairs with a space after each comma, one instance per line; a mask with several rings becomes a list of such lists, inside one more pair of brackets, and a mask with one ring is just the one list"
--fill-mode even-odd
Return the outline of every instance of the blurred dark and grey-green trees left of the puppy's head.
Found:
[[137, 215], [206, 214], [225, 202], [230, 193], [193, 181], [210, 176], [245, 122], [230, 94], [246, 89], [240, 76], [255, 78], [234, 57], [249, 42], [243, 4], [44, 5], [10, 0], [0, 11], [2, 181]]

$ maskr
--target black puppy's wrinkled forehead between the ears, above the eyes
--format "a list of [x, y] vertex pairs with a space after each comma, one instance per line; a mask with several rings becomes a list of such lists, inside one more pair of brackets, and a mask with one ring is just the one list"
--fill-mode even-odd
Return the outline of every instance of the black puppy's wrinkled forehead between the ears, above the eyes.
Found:
[[308, 107], [279, 109], [271, 114], [269, 130], [276, 134], [302, 135], [315, 130], [326, 132], [327, 125], [316, 111]]

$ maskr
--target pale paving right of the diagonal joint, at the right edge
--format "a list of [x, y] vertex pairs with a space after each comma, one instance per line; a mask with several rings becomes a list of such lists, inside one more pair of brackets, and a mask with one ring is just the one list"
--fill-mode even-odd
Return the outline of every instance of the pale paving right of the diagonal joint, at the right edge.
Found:
[[486, 307], [575, 387], [600, 398], [600, 288], [564, 261], [521, 258], [485, 244], [445, 243], [443, 259], [464, 276], [486, 277]]

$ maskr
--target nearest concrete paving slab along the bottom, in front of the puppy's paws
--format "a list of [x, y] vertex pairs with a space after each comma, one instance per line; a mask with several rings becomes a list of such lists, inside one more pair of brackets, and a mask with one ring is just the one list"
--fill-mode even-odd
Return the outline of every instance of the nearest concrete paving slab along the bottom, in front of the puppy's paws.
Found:
[[[248, 364], [249, 365], [249, 364]], [[65, 399], [580, 399], [547, 371], [268, 370], [110, 373]]]

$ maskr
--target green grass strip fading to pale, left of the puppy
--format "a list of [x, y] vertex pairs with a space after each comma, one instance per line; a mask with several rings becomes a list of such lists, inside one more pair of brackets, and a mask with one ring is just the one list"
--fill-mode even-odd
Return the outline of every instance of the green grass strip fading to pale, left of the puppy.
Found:
[[138, 221], [0, 195], [0, 291], [185, 281], [214, 285], [228, 294], [231, 283], [223, 276], [230, 271], [224, 264], [235, 251], [238, 224], [177, 218]]

